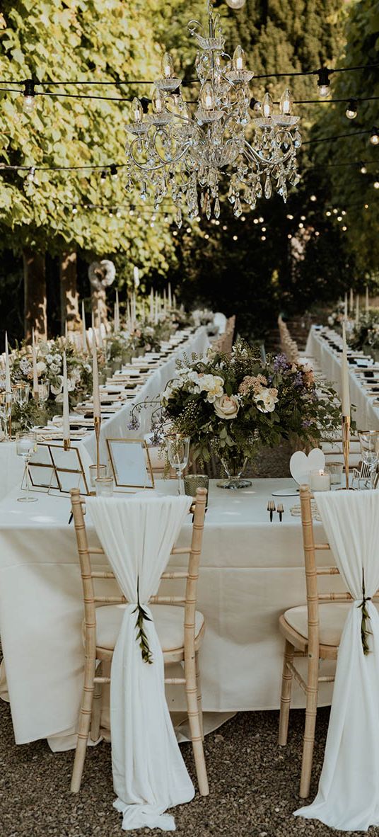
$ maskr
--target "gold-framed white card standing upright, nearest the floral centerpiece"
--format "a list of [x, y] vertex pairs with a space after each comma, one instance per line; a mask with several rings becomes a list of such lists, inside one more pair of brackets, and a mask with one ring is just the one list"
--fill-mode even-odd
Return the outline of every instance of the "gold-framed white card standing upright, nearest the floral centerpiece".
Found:
[[149, 449], [143, 439], [106, 439], [115, 485], [154, 488]]

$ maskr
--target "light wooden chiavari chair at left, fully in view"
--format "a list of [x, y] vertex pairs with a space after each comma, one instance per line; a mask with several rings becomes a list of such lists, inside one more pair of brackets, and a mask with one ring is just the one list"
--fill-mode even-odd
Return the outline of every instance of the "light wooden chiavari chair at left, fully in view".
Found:
[[[102, 675], [101, 664], [110, 663], [112, 660], [123, 617], [123, 608], [120, 605], [125, 604], [126, 599], [121, 593], [118, 596], [95, 594], [94, 581], [115, 579], [115, 574], [111, 570], [100, 571], [92, 568], [91, 555], [105, 556], [105, 552], [101, 547], [89, 545], [85, 528], [85, 501], [80, 497], [79, 489], [72, 489], [70, 493], [85, 605], [85, 679], [71, 778], [71, 791], [78, 793], [89, 735], [94, 742], [98, 741], [101, 735], [101, 686], [110, 683], [110, 677]], [[202, 796], [207, 796], [209, 793], [202, 747], [202, 695], [198, 662], [198, 651], [202, 644], [205, 621], [202, 614], [197, 611], [196, 604], [206, 501], [207, 490], [198, 488], [190, 510], [193, 515], [191, 544], [188, 547], [173, 547], [172, 549], [172, 555], [188, 555], [187, 570], [167, 571], [161, 575], [161, 579], [185, 581], [185, 595], [156, 595], [152, 596], [149, 602], [161, 641], [165, 665], [184, 664], [183, 676], [165, 677], [165, 683], [171, 686], [184, 686], [186, 691], [197, 782]], [[96, 608], [96, 604], [101, 607]], [[98, 662], [97, 667], [96, 662]]]

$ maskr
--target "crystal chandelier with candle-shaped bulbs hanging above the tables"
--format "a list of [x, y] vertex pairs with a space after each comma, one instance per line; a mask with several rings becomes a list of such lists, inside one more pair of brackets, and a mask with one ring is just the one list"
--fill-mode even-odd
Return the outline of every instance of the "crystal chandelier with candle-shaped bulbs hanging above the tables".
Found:
[[[238, 46], [231, 58], [213, 0], [207, 0], [207, 31], [197, 20], [188, 23], [197, 41], [196, 72], [201, 83], [197, 102], [182, 98], [182, 79], [174, 72], [172, 57], [161, 60], [161, 78], [154, 82], [151, 112], [139, 99], [131, 105], [131, 121], [125, 126], [127, 189], [138, 184], [141, 198], [153, 198], [159, 208], [165, 198], [182, 214], [196, 218], [220, 215], [219, 189], [228, 182], [228, 199], [234, 215], [243, 213], [242, 202], [255, 208], [257, 199], [276, 191], [287, 198], [287, 184], [295, 185], [296, 150], [301, 145], [299, 117], [292, 116], [292, 96], [284, 90], [279, 114], [271, 96], [261, 103], [252, 99], [248, 85], [254, 73], [246, 68]], [[257, 110], [258, 108], [258, 110]], [[253, 116], [251, 116], [252, 109]], [[200, 203], [200, 206], [199, 206]]]

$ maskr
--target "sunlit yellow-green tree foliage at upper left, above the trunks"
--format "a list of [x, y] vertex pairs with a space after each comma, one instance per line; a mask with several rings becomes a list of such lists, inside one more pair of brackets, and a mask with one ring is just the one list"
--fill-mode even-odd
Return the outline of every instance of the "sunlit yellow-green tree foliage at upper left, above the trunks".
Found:
[[[136, 88], [118, 79], [151, 78], [159, 69], [161, 49], [151, 29], [156, 0], [145, 3], [145, 13], [122, 0], [19, 0], [3, 3], [6, 28], [1, 31], [2, 79], [108, 80], [109, 87], [80, 89], [61, 85], [50, 91], [82, 92], [98, 96], [131, 96]], [[14, 86], [14, 85], [13, 85]], [[40, 88], [37, 88], [40, 90]], [[148, 94], [146, 87], [138, 94]], [[32, 115], [23, 113], [23, 96], [1, 94], [3, 119], [0, 162], [23, 166], [109, 165], [125, 163], [125, 118], [128, 103], [105, 100], [37, 96]], [[18, 252], [24, 246], [49, 249], [81, 248], [93, 254], [117, 253], [142, 273], [154, 268], [166, 272], [172, 258], [167, 225], [150, 213], [129, 215], [137, 196], [125, 193], [125, 170], [116, 181], [100, 181], [100, 171], [3, 172], [0, 191], [2, 244]], [[111, 205], [108, 211], [84, 204]], [[72, 213], [77, 208], [76, 214]], [[141, 217], [140, 217], [141, 215]]]

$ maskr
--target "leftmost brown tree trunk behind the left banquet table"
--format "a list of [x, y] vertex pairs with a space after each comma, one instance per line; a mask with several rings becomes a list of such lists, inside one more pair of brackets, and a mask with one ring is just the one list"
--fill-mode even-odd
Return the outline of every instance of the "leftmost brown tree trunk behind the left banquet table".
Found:
[[23, 250], [23, 316], [26, 340], [32, 338], [32, 329], [42, 339], [48, 336], [46, 316], [46, 275], [44, 253]]

